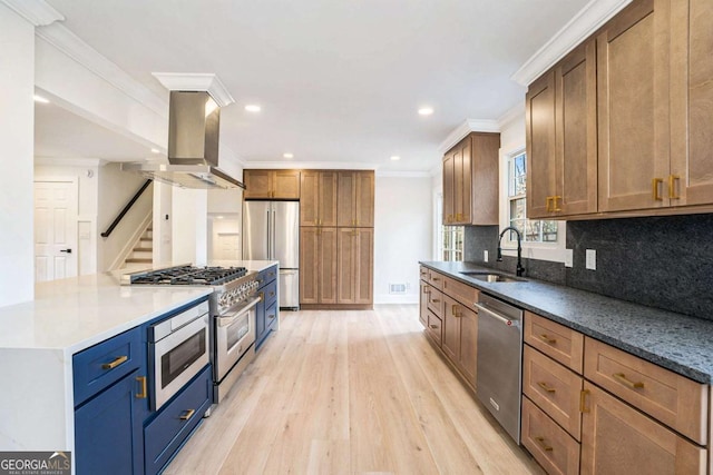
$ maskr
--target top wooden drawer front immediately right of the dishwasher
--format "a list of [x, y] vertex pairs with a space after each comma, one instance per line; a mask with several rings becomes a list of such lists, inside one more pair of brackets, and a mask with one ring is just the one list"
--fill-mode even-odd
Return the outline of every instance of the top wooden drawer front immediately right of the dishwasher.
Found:
[[582, 374], [584, 336], [547, 318], [525, 311], [525, 343]]

